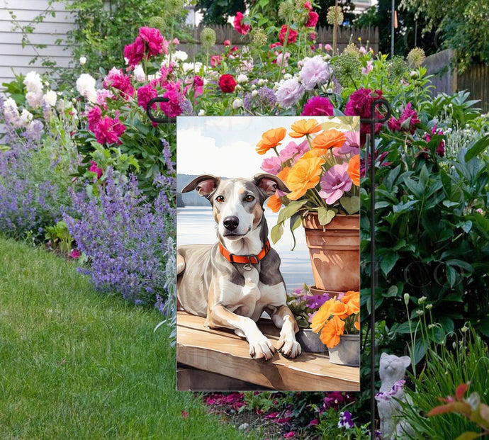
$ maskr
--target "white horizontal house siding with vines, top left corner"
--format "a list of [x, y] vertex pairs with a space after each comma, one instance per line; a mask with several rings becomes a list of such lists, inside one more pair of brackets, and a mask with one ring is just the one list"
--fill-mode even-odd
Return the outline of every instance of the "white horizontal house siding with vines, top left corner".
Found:
[[[45, 72], [42, 67], [43, 60], [39, 57], [34, 64], [29, 64], [36, 52], [33, 47], [22, 47], [22, 34], [13, 30], [12, 18], [9, 11], [16, 16], [21, 26], [28, 25], [33, 18], [47, 9], [47, 0], [0, 0], [0, 89], [4, 82], [11, 81], [16, 74], [26, 74], [31, 70]], [[72, 29], [73, 16], [65, 11], [64, 4], [52, 4], [56, 16], [48, 14], [42, 23], [35, 24], [35, 30], [28, 35], [33, 44], [45, 44], [45, 49], [38, 49], [40, 55], [51, 57], [60, 67], [68, 67], [71, 60], [71, 51], [64, 45], [56, 45], [55, 41], [66, 37], [67, 31]], [[12, 72], [13, 69], [13, 72]]]

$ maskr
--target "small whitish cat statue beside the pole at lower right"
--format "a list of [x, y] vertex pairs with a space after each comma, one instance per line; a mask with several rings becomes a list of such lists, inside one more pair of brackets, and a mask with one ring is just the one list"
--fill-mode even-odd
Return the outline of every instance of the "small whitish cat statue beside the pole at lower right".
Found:
[[[376, 394], [378, 415], [381, 419], [381, 435], [383, 440], [406, 438], [405, 434], [414, 434], [409, 424], [395, 422], [394, 417], [400, 414], [400, 401], [408, 401], [404, 393], [404, 377], [406, 368], [410, 366], [409, 356], [395, 356], [383, 353], [379, 368], [381, 389]], [[404, 434], [404, 436], [403, 436]]]

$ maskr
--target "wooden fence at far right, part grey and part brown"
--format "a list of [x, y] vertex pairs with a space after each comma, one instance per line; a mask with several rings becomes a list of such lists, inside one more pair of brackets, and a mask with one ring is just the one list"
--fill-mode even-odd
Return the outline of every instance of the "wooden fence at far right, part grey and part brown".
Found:
[[453, 94], [459, 90], [470, 92], [471, 99], [479, 99], [478, 107], [489, 111], [489, 66], [471, 66], [459, 74], [451, 67], [451, 58], [454, 52], [450, 49], [442, 50], [430, 55], [425, 60], [427, 73], [434, 75], [431, 79], [435, 87], [432, 94]]

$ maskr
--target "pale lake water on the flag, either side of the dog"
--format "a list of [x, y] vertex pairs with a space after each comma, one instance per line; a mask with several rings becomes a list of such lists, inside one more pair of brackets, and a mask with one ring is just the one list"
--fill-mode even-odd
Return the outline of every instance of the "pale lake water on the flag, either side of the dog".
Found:
[[[266, 222], [269, 231], [276, 225], [279, 213], [266, 210]], [[288, 227], [288, 221], [283, 227], [283, 236], [271, 246], [279, 252], [281, 259], [280, 270], [286, 282], [287, 292], [303, 286], [304, 283], [314, 284], [313, 271], [310, 266], [309, 250], [305, 244], [305, 234], [302, 227], [294, 231], [296, 247], [293, 251], [293, 238]], [[215, 221], [210, 206], [189, 206], [176, 210], [176, 243], [183, 244], [213, 244], [217, 242]]]

